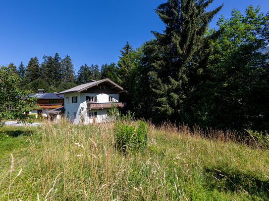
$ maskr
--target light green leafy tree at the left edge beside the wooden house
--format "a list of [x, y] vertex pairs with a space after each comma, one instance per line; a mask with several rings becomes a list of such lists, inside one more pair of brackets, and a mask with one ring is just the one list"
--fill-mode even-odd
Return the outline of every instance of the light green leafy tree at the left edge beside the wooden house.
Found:
[[18, 84], [19, 76], [8, 67], [0, 68], [0, 120], [25, 120], [24, 112], [29, 112], [38, 107], [34, 104], [37, 97], [31, 91], [21, 90]]

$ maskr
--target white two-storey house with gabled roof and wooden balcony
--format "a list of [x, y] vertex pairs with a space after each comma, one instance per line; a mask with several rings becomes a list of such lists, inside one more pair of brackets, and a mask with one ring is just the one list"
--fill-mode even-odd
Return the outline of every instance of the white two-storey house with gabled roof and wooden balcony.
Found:
[[126, 103], [119, 102], [119, 93], [129, 93], [115, 82], [107, 79], [91, 80], [86, 84], [56, 93], [64, 95], [64, 114], [74, 123], [81, 120], [85, 124], [107, 120], [107, 113], [114, 102], [118, 108]]

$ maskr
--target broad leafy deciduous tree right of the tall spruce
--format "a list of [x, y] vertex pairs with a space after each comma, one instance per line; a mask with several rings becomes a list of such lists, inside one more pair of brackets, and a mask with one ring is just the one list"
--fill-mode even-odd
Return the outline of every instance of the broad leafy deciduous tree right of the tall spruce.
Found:
[[269, 43], [269, 15], [259, 10], [249, 6], [244, 16], [233, 9], [230, 19], [219, 19], [223, 31], [211, 41], [204, 80], [188, 92], [182, 121], [203, 128], [268, 130], [269, 53], [260, 48]]

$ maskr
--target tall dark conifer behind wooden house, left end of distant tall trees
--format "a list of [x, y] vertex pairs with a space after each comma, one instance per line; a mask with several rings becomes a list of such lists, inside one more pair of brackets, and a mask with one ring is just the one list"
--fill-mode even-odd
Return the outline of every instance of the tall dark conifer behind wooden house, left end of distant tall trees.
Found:
[[39, 60], [35, 56], [35, 58], [31, 58], [27, 67], [26, 67], [26, 73], [25, 77], [29, 81], [37, 80], [40, 77], [40, 66], [39, 66]]

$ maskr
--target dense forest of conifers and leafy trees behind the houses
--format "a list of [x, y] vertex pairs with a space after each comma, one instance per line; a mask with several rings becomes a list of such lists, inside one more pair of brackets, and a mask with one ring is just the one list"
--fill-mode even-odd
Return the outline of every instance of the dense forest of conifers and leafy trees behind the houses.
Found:
[[[183, 2], [183, 1], [182, 1]], [[109, 78], [130, 92], [120, 101], [137, 118], [218, 129], [269, 129], [269, 13], [249, 6], [231, 18], [209, 23], [223, 5], [206, 12], [210, 2], [168, 0], [155, 10], [163, 33], [119, 51], [117, 64], [82, 65], [77, 74], [70, 56], [32, 57], [25, 66], [10, 63], [21, 89], [63, 91], [89, 80]], [[104, 58], [105, 59], [105, 58]]]

